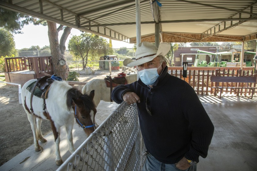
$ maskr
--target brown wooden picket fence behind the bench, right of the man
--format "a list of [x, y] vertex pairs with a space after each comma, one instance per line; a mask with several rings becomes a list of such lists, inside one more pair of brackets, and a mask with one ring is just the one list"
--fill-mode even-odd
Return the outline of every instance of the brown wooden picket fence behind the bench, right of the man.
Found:
[[[217, 70], [218, 69], [218, 70]], [[187, 78], [183, 78], [182, 67], [168, 67], [169, 73], [174, 75], [178, 78], [184, 79], [188, 84], [190, 84], [195, 90], [196, 93], [199, 95], [208, 95], [213, 94], [214, 89], [211, 87], [214, 86], [214, 82], [210, 82], [210, 76], [231, 76], [231, 77], [239, 77], [239, 76], [253, 76], [256, 77], [257, 75], [253, 73], [253, 67], [188, 67], [187, 69]], [[216, 71], [217, 70], [217, 71]], [[217, 72], [217, 73], [216, 73]], [[222, 86], [237, 86], [237, 83], [222, 83]], [[256, 87], [256, 83], [250, 84], [252, 87]], [[247, 91], [247, 90], [245, 90]], [[225, 93], [232, 94], [232, 90], [224, 89]], [[248, 92], [243, 92], [243, 89], [240, 90], [240, 95], [243, 93], [250, 94], [250, 90]], [[254, 94], [256, 91], [254, 92]]]

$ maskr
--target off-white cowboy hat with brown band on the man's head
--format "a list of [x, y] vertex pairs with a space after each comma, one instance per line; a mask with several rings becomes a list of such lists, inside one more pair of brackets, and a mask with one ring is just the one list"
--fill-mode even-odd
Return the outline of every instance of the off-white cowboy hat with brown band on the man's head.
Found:
[[127, 67], [137, 66], [153, 60], [156, 56], [165, 56], [169, 52], [171, 46], [168, 43], [160, 43], [159, 48], [150, 42], [139, 43], [136, 47], [136, 60], [125, 59], [123, 65]]

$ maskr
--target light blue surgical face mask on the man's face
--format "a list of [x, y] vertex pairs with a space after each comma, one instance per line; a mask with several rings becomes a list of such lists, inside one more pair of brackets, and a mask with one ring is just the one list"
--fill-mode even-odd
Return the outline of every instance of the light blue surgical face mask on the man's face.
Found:
[[159, 77], [158, 72], [157, 72], [159, 67], [158, 68], [149, 68], [149, 69], [144, 69], [142, 71], [138, 71], [141, 81], [145, 85], [153, 85], [156, 82], [157, 78]]

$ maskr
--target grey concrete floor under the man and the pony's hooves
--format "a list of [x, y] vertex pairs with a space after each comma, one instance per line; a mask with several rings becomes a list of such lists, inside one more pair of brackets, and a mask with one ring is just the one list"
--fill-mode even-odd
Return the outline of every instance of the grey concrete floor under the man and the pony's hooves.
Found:
[[[212, 120], [215, 130], [207, 158], [201, 158], [198, 171], [256, 171], [257, 170], [257, 96], [248, 99], [244, 96], [225, 95], [221, 99], [214, 96], [199, 96], [203, 106]], [[100, 107], [101, 106], [101, 107]], [[103, 114], [111, 113], [117, 104], [100, 102], [97, 110]], [[106, 112], [106, 109], [109, 111]], [[100, 125], [107, 114], [97, 115]], [[65, 139], [61, 133], [61, 156], [63, 160], [70, 155]], [[74, 124], [75, 148], [86, 139], [83, 130]], [[41, 143], [43, 151], [34, 151], [33, 145], [6, 162], [1, 171], [9, 170], [56, 170], [54, 154], [54, 136], [46, 136], [47, 143]]]

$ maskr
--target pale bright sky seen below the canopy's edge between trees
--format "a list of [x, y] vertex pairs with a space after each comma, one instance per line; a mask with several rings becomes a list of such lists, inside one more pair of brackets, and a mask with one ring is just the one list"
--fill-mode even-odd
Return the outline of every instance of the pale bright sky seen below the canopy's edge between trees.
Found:
[[[25, 25], [21, 32], [23, 34], [16, 34], [13, 35], [14, 41], [15, 41], [15, 48], [16, 49], [23, 49], [23, 48], [30, 48], [31, 46], [37, 46], [39, 45], [40, 48], [44, 47], [45, 45], [49, 45], [49, 39], [47, 35], [48, 28], [47, 26], [42, 25]], [[59, 32], [59, 40], [62, 35], [62, 31]], [[73, 35], [80, 35], [81, 32], [78, 29], [73, 28], [71, 30], [71, 34], [67, 38], [67, 41], [65, 43], [66, 49], [68, 49], [68, 43], [69, 39]], [[109, 39], [108, 39], [109, 41]], [[129, 44], [127, 42], [112, 40], [113, 49], [120, 48], [120, 47], [127, 47], [132, 48], [133, 44]]]

